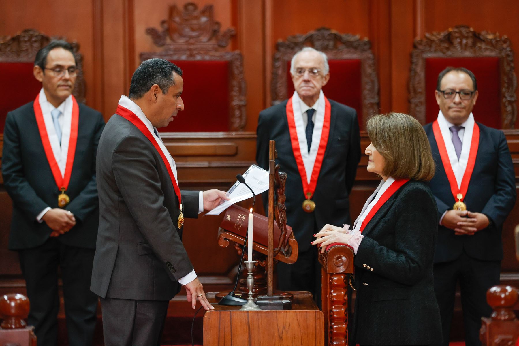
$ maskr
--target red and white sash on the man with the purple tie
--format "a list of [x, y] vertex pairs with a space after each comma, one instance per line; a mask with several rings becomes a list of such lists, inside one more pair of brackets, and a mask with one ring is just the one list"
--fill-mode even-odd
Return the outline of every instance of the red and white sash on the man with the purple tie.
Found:
[[[443, 115], [441, 115], [443, 116]], [[470, 115], [472, 116], [472, 114]], [[440, 119], [440, 115], [438, 117]], [[454, 199], [457, 201], [458, 193], [461, 193], [462, 198], [461, 201], [465, 199], [465, 195], [467, 194], [467, 190], [469, 189], [470, 178], [472, 176], [472, 172], [474, 171], [474, 164], [476, 162], [477, 156], [477, 148], [480, 143], [480, 128], [477, 124], [473, 122], [472, 131], [469, 127], [465, 129], [465, 133], [463, 134], [463, 147], [460, 155], [460, 162], [463, 162], [462, 156], [465, 154], [466, 162], [465, 169], [463, 167], [455, 167], [453, 168], [453, 162], [455, 164], [460, 164], [457, 162], [456, 154], [450, 153], [448, 146], [452, 146], [452, 141], [450, 141], [450, 135], [445, 133], [445, 129], [441, 129], [439, 119], [436, 119], [432, 123], [432, 131], [434, 133], [434, 139], [436, 140], [436, 145], [438, 145], [438, 151], [440, 152], [440, 157], [442, 159], [443, 168], [445, 169], [445, 174], [447, 175], [447, 179], [450, 185], [450, 191], [452, 192]], [[473, 119], [473, 118], [472, 118]], [[445, 121], [444, 119], [440, 119], [440, 121]], [[448, 131], [448, 127], [447, 127]], [[472, 133], [470, 133], [472, 132]], [[448, 138], [447, 142], [445, 138]], [[470, 142], [469, 142], [470, 140]], [[469, 146], [470, 143], [470, 146]], [[463, 153], [465, 151], [465, 153]], [[468, 155], [467, 155], [468, 154]], [[456, 160], [453, 159], [453, 156]], [[463, 160], [463, 161], [462, 161]], [[456, 172], [456, 169], [458, 170]], [[460, 174], [462, 172], [462, 174]], [[456, 174], [458, 173], [458, 174]], [[461, 178], [461, 179], [460, 179]]]

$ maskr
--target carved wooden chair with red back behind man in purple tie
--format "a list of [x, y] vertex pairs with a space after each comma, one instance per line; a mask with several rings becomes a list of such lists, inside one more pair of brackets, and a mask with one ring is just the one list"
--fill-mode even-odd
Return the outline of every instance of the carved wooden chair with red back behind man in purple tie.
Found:
[[447, 66], [468, 68], [476, 76], [479, 89], [474, 106], [476, 121], [497, 129], [514, 128], [517, 80], [507, 36], [476, 32], [460, 25], [414, 41], [409, 112], [422, 124], [438, 116], [434, 90], [438, 74]]

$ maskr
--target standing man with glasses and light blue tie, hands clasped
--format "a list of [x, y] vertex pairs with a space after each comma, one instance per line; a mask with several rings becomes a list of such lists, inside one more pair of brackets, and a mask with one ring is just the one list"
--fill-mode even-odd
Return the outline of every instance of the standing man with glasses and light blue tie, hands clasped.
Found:
[[19, 253], [38, 345], [58, 338], [58, 268], [70, 345], [91, 345], [98, 298], [90, 277], [99, 224], [95, 157], [101, 113], [78, 103], [70, 44], [40, 49], [33, 102], [7, 114], [2, 175], [12, 199], [9, 249]]

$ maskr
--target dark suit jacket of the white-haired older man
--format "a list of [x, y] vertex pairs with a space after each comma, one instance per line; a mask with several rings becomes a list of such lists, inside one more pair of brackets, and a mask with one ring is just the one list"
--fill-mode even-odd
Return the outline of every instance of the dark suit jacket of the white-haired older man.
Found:
[[[286, 103], [288, 100], [260, 113], [257, 127], [256, 162], [268, 170], [268, 141], [276, 141], [281, 171], [286, 179], [286, 218], [294, 230], [299, 251], [309, 250], [312, 234], [326, 224], [342, 225], [350, 222], [348, 196], [355, 181], [360, 160], [360, 135], [356, 111], [330, 100], [330, 135], [324, 153], [321, 172], [312, 200], [316, 209], [306, 213], [302, 204], [306, 199], [301, 175], [292, 151]], [[305, 150], [303, 148], [302, 150]], [[263, 195], [265, 212], [268, 212], [268, 194]]]

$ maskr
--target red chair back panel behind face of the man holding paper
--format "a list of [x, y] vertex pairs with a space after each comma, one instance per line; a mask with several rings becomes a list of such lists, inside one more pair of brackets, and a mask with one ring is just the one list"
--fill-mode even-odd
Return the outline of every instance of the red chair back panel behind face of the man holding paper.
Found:
[[229, 131], [228, 61], [177, 60], [182, 68], [184, 110], [161, 132]]

